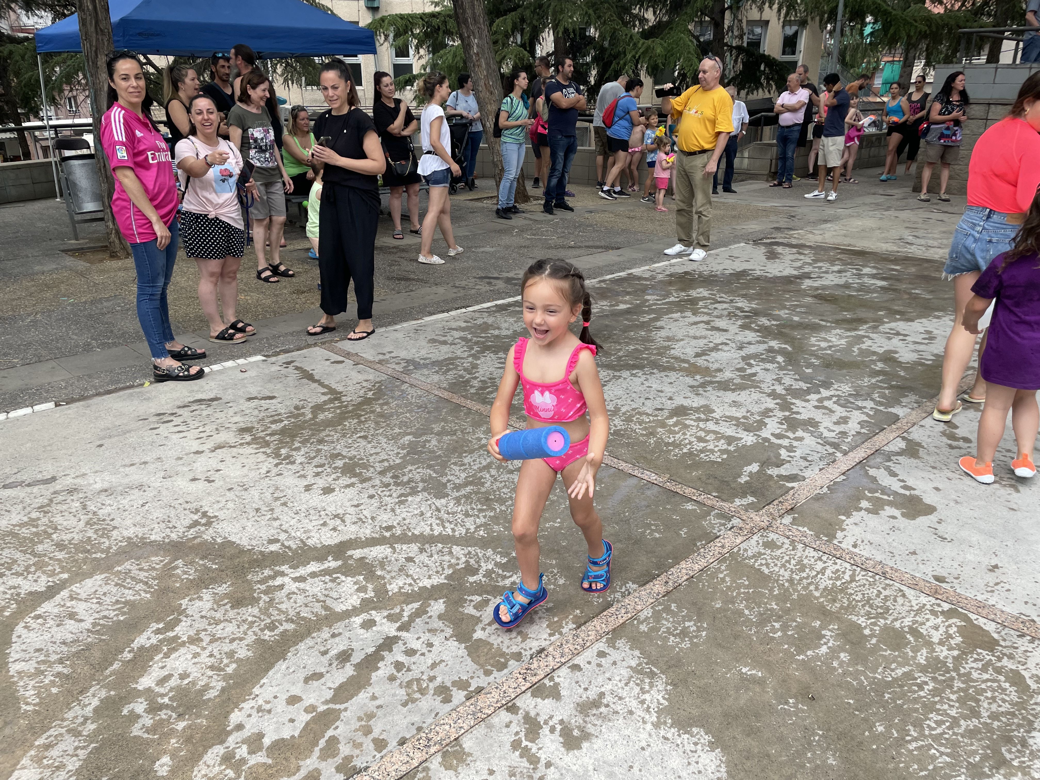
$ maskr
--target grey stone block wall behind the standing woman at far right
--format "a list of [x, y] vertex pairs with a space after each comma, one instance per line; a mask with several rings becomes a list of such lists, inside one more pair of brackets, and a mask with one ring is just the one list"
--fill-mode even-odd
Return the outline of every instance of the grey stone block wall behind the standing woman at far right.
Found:
[[[1040, 70], [1040, 63], [1025, 64], [945, 64], [935, 69], [935, 90], [942, 87], [946, 76], [955, 71], [964, 71], [964, 88], [971, 102], [968, 104], [967, 119], [961, 125], [963, 142], [958, 161], [950, 166], [950, 183], [946, 192], [950, 194], [966, 194], [968, 185], [968, 162], [971, 150], [979, 136], [987, 128], [1008, 115], [1008, 109], [1015, 102], [1022, 82], [1033, 72]], [[918, 160], [925, 159], [925, 144], [921, 144]], [[916, 166], [914, 192], [920, 191], [920, 174], [924, 165]], [[939, 165], [932, 172], [932, 181], [928, 188], [932, 192], [939, 190]]]

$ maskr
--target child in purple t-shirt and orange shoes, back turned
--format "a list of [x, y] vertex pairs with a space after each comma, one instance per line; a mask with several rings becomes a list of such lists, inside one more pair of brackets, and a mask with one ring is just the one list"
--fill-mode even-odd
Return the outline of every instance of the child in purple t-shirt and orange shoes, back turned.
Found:
[[987, 389], [976, 457], [965, 456], [960, 466], [977, 482], [993, 482], [993, 458], [1010, 410], [1018, 453], [1011, 468], [1016, 476], [1031, 477], [1040, 424], [1040, 198], [1033, 201], [1011, 250], [993, 258], [971, 291], [963, 319], [968, 333], [979, 333], [990, 301], [996, 298], [996, 306], [980, 366]]

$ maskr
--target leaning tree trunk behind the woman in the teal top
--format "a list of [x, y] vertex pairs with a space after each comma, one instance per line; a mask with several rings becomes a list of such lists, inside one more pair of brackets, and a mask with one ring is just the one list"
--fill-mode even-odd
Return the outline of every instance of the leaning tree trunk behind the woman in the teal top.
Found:
[[[466, 54], [466, 64], [473, 77], [473, 86], [476, 87], [476, 103], [480, 107], [484, 135], [488, 142], [491, 162], [495, 167], [497, 189], [502, 181], [504, 168], [498, 138], [492, 137], [492, 131], [498, 108], [502, 104], [502, 84], [495, 50], [491, 45], [491, 24], [488, 22], [484, 0], [451, 0], [451, 4], [454, 6], [456, 24], [459, 26], [459, 40]], [[519, 186], [517, 189], [519, 190]]]

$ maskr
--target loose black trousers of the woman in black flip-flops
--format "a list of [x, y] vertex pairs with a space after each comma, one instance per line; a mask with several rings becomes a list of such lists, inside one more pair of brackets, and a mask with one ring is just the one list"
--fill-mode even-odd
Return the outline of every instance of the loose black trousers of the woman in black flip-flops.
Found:
[[345, 312], [346, 291], [354, 279], [358, 319], [371, 319], [379, 192], [327, 182], [318, 218], [321, 311], [330, 316]]

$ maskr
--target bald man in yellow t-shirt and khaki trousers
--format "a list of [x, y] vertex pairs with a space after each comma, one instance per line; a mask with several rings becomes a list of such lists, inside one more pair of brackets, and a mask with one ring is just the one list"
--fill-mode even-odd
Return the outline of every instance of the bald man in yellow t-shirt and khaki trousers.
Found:
[[[703, 260], [711, 240], [711, 177], [733, 132], [733, 99], [720, 86], [722, 63], [718, 57], [701, 60], [699, 86], [692, 86], [672, 101], [678, 154], [675, 158], [675, 229], [679, 242], [666, 255], [690, 255]], [[694, 246], [694, 210], [697, 212], [697, 246]]]

